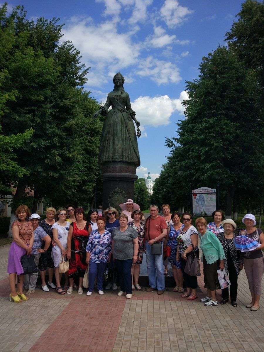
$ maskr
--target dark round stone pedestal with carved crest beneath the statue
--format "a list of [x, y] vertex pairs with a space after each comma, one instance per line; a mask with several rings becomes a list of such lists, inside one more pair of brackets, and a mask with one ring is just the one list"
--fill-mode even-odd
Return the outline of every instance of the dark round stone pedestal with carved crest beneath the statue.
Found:
[[127, 199], [134, 199], [134, 182], [137, 180], [136, 166], [132, 163], [108, 162], [101, 168], [103, 182], [103, 209], [114, 207]]

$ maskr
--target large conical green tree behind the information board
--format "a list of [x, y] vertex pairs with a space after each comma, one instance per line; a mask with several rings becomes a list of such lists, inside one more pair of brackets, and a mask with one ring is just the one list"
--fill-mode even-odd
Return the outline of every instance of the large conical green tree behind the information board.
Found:
[[178, 138], [167, 140], [180, 188], [215, 187], [219, 181], [226, 192], [226, 216], [231, 216], [235, 189], [256, 195], [262, 184], [257, 89], [254, 75], [234, 52], [219, 47], [203, 57], [199, 79], [187, 82], [186, 119], [178, 124]]

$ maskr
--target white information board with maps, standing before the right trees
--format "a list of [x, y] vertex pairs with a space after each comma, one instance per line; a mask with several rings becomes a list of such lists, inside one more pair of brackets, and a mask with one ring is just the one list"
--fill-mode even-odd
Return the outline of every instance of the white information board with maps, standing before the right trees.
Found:
[[216, 189], [193, 189], [193, 215], [212, 215], [216, 210]]

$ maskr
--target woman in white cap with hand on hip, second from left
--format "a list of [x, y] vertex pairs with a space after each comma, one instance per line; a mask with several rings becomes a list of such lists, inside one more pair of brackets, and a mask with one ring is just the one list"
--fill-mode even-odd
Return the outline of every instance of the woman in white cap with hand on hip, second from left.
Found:
[[[34, 262], [38, 266], [41, 253], [45, 253], [46, 250], [48, 250], [51, 243], [51, 238], [43, 230], [43, 228], [39, 226], [40, 216], [38, 214], [32, 214], [29, 220], [32, 223], [33, 232], [34, 232], [34, 242], [32, 245], [31, 254], [33, 254]], [[43, 241], [45, 242], [44, 249], [42, 249]], [[24, 290], [26, 291], [26, 296], [29, 296], [35, 292], [37, 279], [38, 279], [38, 272], [32, 272], [31, 274], [25, 275]], [[43, 288], [43, 290], [49, 291], [48, 287], [46, 287], [46, 289]]]

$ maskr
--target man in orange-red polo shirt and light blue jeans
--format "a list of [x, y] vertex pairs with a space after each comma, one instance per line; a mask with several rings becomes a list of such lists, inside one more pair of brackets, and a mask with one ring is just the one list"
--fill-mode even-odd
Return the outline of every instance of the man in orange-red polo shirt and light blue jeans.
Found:
[[[165, 289], [164, 265], [163, 265], [163, 238], [167, 234], [167, 224], [163, 216], [158, 215], [159, 208], [151, 205], [150, 217], [146, 220], [145, 246], [147, 275], [149, 276], [149, 285], [147, 292], [158, 290], [158, 295], [162, 295]], [[151, 254], [151, 245], [161, 243], [161, 255]]]

